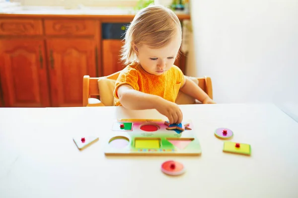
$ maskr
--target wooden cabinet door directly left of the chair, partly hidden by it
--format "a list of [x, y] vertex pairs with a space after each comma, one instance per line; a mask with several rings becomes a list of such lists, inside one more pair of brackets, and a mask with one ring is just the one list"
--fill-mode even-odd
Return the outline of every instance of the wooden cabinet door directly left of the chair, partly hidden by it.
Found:
[[82, 106], [83, 76], [96, 77], [97, 47], [92, 39], [49, 39], [49, 78], [54, 107]]

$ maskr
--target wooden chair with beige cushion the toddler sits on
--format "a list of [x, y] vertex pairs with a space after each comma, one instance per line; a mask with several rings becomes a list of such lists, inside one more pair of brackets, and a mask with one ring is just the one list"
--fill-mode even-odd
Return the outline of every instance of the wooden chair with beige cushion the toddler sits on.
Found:
[[[85, 75], [83, 77], [83, 106], [112, 106], [113, 100], [113, 84], [115, 84], [116, 79], [118, 78], [120, 71], [103, 77], [90, 78], [90, 76]], [[195, 78], [189, 77], [193, 80], [198, 86], [211, 98], [213, 99], [213, 90], [212, 90], [212, 81], [210, 77]], [[104, 81], [108, 85], [100, 86], [99, 82]], [[100, 87], [110, 87], [108, 91], [101, 91]], [[176, 103], [178, 104], [191, 104], [191, 103], [200, 103], [199, 101], [194, 101], [189, 96], [184, 96], [185, 94], [179, 92], [177, 96]], [[99, 97], [99, 99], [91, 97]], [[108, 102], [103, 102], [103, 97], [109, 97]], [[180, 97], [178, 99], [178, 97]], [[188, 98], [187, 98], [188, 97]], [[183, 98], [183, 99], [182, 99]], [[102, 101], [101, 101], [102, 100]], [[178, 101], [179, 100], [179, 101]]]

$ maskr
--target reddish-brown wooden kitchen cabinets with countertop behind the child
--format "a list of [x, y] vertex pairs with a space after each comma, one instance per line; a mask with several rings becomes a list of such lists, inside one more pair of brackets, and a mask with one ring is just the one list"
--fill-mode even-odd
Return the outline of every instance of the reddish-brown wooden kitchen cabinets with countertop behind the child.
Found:
[[[133, 18], [1, 14], [0, 107], [82, 106], [84, 75], [106, 76], [125, 67], [120, 62], [122, 39], [106, 38], [102, 24], [127, 24]], [[175, 61], [182, 71], [183, 62]]]

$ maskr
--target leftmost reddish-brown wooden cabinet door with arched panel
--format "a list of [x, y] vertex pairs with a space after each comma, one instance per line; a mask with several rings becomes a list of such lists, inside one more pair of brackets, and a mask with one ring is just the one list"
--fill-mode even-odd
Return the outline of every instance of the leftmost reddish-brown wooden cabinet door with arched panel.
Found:
[[44, 51], [42, 40], [0, 40], [3, 106], [50, 106]]

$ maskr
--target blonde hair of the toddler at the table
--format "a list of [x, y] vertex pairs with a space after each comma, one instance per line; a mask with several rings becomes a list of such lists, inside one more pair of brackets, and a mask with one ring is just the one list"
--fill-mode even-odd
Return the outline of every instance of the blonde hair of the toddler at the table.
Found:
[[148, 45], [152, 49], [162, 48], [169, 44], [177, 31], [182, 35], [180, 21], [171, 9], [154, 4], [141, 9], [126, 30], [121, 60], [124, 64], [138, 60], [133, 44], [138, 47]]

